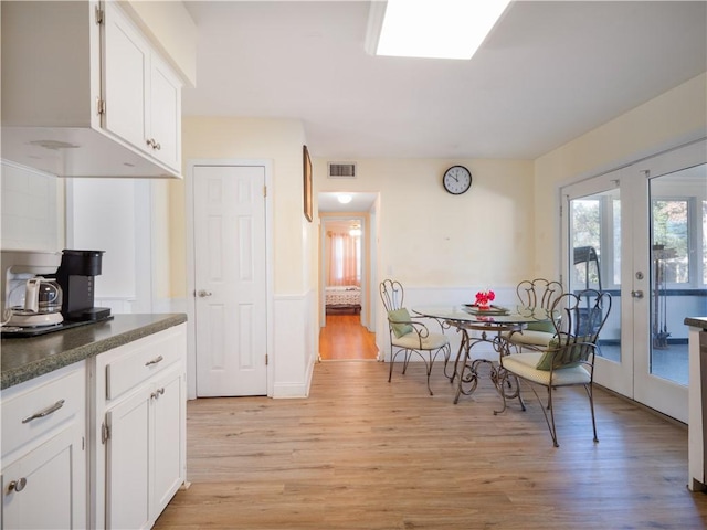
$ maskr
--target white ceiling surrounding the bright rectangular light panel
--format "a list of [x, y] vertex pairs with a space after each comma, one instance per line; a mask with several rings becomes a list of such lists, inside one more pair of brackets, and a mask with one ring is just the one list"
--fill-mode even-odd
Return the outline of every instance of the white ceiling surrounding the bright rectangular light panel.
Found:
[[704, 1], [516, 1], [471, 61], [368, 55], [367, 1], [184, 3], [184, 115], [299, 119], [333, 161], [534, 159], [707, 70]]

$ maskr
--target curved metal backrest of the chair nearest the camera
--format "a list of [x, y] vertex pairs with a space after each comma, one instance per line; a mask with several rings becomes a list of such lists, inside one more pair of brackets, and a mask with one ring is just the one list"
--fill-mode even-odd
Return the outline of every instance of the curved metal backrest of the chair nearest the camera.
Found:
[[552, 305], [559, 315], [556, 338], [548, 349], [558, 350], [553, 369], [592, 362], [599, 333], [611, 311], [611, 295], [595, 289], [564, 293]]

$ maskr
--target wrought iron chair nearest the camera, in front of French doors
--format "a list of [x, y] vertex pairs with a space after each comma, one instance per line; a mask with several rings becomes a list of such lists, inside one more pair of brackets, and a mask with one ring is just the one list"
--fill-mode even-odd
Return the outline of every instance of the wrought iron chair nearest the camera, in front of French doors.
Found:
[[[611, 296], [595, 289], [580, 293], [566, 293], [552, 305], [552, 311], [561, 317], [555, 321], [556, 337], [547, 348], [538, 351], [511, 353], [500, 357], [500, 381], [498, 388], [503, 396], [504, 406], [499, 414], [506, 410], [507, 400], [518, 398], [520, 407], [526, 405], [520, 395], [520, 382], [529, 383], [532, 393], [542, 405], [545, 421], [550, 430], [555, 447], [557, 443], [557, 428], [555, 426], [555, 410], [552, 393], [556, 389], [570, 385], [582, 385], [589, 396], [589, 406], [592, 413], [592, 428], [594, 442], [597, 437], [597, 422], [594, 420], [594, 357], [599, 351], [599, 333], [606, 322], [611, 310]], [[547, 409], [536, 391], [536, 386], [547, 389]]]

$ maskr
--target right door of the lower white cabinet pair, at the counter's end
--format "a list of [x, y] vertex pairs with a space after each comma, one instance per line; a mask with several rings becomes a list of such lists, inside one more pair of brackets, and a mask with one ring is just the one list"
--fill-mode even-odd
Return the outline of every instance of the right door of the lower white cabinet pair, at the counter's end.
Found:
[[155, 418], [152, 491], [155, 494], [154, 518], [157, 518], [184, 480], [182, 418], [186, 414], [186, 403], [181, 372], [172, 372], [162, 378], [155, 389], [157, 398], [152, 401]]

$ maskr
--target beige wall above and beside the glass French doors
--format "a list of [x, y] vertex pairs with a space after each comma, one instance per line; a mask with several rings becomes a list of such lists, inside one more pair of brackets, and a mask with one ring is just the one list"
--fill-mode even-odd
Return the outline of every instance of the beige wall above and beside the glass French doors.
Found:
[[707, 74], [651, 99], [535, 161], [534, 263], [538, 276], [559, 269], [559, 187], [615, 169], [707, 135]]

